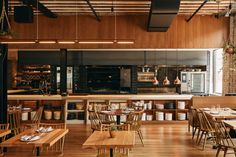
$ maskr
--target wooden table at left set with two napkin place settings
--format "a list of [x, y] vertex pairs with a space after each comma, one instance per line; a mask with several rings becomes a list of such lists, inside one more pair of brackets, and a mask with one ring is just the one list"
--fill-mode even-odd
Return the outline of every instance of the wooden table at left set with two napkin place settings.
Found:
[[41, 137], [39, 140], [32, 142], [22, 142], [20, 141], [21, 136], [30, 135], [32, 133], [32, 129], [25, 130], [24, 132], [2, 142], [0, 144], [1, 147], [24, 147], [24, 146], [33, 146], [37, 148], [37, 156], [40, 155], [41, 147], [50, 147], [63, 138], [69, 132], [68, 129], [54, 129], [48, 133], [38, 133]]

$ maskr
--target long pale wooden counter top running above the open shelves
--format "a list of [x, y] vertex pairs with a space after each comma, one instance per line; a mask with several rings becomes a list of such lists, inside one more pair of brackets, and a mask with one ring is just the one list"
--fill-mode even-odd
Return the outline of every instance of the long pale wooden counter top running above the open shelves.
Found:
[[119, 95], [8, 95], [8, 100], [190, 100], [193, 95], [119, 94]]

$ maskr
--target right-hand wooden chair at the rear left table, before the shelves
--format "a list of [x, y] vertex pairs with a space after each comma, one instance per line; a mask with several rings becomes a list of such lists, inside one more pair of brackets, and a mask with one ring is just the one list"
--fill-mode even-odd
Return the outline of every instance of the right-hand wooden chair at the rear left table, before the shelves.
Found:
[[23, 124], [23, 127], [24, 128], [38, 127], [42, 119], [42, 114], [43, 114], [43, 106], [40, 106], [39, 109], [36, 111], [34, 117], [32, 117], [31, 121]]

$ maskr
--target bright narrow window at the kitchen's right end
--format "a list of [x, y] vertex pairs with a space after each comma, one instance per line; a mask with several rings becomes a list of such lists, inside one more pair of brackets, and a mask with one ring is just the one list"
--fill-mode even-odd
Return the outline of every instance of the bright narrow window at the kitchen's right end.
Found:
[[213, 51], [213, 93], [223, 91], [223, 49]]

